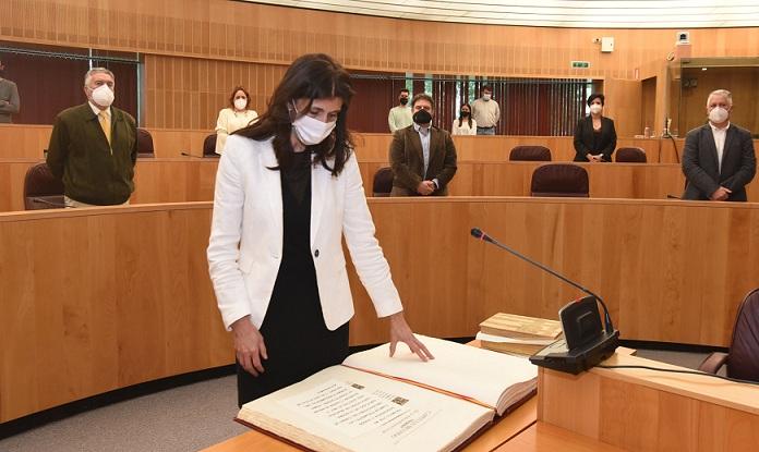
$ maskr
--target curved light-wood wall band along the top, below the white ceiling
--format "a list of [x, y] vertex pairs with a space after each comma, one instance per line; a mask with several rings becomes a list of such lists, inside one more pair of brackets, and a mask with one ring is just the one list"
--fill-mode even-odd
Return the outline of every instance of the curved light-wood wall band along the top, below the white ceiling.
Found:
[[[442, 74], [635, 78], [636, 68], [674, 49], [676, 32], [409, 22], [226, 0], [7, 3], [7, 40], [270, 64], [323, 51], [353, 69]], [[751, 29], [691, 29], [691, 54], [756, 56]], [[601, 53], [600, 36], [615, 38], [613, 53]], [[570, 60], [591, 66], [571, 69]]]

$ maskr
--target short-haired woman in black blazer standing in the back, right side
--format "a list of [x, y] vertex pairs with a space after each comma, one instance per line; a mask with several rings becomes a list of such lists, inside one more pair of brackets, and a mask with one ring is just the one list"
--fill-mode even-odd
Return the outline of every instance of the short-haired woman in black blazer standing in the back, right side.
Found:
[[590, 114], [580, 118], [575, 127], [575, 161], [612, 161], [616, 130], [614, 121], [603, 115], [604, 101], [602, 94], [588, 97]]

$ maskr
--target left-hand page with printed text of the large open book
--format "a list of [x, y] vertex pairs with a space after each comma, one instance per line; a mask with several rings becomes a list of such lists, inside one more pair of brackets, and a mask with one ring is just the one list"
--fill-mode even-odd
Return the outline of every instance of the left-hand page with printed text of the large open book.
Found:
[[243, 405], [239, 418], [317, 451], [447, 451], [494, 412], [345, 366]]

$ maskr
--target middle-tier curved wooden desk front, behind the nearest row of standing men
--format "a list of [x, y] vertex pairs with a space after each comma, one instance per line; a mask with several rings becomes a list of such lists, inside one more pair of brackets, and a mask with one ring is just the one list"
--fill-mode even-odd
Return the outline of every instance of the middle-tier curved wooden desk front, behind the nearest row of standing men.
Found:
[[[26, 170], [36, 159], [0, 159], [0, 211], [23, 210]], [[449, 185], [451, 196], [529, 196], [532, 172], [542, 162], [459, 161]], [[679, 196], [685, 180], [677, 164], [579, 163], [588, 170], [591, 198], [664, 199]], [[185, 203], [214, 199], [218, 159], [140, 159], [135, 168], [132, 204]], [[386, 161], [360, 161], [364, 192], [372, 196], [372, 180]], [[759, 200], [759, 182], [747, 186], [748, 198]]]

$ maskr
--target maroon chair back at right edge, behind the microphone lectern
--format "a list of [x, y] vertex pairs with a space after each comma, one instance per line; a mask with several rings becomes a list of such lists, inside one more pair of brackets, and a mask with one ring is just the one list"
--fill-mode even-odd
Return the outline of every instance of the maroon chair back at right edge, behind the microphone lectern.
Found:
[[759, 289], [738, 306], [727, 356], [727, 376], [759, 381]]

